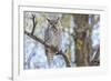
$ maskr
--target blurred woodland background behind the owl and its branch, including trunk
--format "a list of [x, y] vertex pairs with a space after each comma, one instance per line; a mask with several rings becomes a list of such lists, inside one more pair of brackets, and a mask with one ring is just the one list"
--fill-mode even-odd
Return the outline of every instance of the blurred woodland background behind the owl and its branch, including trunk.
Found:
[[[60, 48], [71, 68], [100, 65], [100, 16], [24, 11], [24, 31], [44, 41], [47, 19], [60, 19]], [[34, 20], [34, 21], [33, 21]], [[34, 26], [33, 26], [34, 24]], [[52, 38], [53, 39], [53, 38]], [[59, 38], [58, 38], [59, 39]], [[24, 69], [49, 69], [46, 47], [24, 33]], [[53, 55], [51, 68], [67, 68], [62, 55]]]

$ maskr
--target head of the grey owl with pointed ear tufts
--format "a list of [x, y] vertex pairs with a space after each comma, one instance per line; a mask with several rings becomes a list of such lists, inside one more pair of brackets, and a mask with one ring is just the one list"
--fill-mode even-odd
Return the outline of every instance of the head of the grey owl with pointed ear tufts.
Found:
[[48, 24], [50, 28], [56, 29], [56, 30], [59, 28], [60, 18], [57, 18], [57, 19], [56, 18], [54, 19], [47, 18], [47, 21], [48, 21]]

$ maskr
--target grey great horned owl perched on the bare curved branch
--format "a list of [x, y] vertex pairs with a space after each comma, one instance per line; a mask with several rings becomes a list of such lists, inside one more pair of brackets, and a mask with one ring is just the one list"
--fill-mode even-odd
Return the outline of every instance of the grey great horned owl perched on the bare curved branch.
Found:
[[[60, 50], [62, 41], [60, 18], [47, 19], [47, 21], [48, 21], [48, 27], [44, 31], [44, 41], [47, 44], [53, 45], [54, 48]], [[49, 67], [51, 65], [53, 55], [57, 52], [58, 51], [53, 52], [50, 49], [46, 48], [46, 55], [48, 59]]]

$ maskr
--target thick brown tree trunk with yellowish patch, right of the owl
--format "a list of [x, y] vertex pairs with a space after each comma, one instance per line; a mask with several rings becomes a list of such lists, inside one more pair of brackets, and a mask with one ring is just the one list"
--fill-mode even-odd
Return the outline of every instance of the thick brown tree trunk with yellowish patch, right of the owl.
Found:
[[[88, 67], [90, 64], [89, 54], [91, 53], [91, 31], [89, 27], [89, 14], [74, 14], [75, 42], [75, 63], [77, 67]], [[92, 29], [91, 29], [92, 30]]]

